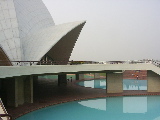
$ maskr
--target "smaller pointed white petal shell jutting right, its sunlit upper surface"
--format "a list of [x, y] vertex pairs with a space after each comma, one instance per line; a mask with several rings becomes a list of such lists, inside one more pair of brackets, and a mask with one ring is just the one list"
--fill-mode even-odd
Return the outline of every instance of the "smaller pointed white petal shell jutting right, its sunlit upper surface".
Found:
[[62, 37], [85, 21], [51, 26], [27, 36], [22, 41], [26, 61], [40, 60]]

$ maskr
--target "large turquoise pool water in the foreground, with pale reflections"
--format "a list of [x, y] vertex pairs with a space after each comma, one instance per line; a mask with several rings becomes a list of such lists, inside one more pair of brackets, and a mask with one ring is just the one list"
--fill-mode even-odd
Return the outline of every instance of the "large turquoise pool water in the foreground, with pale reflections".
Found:
[[160, 96], [74, 101], [43, 108], [16, 120], [160, 120]]

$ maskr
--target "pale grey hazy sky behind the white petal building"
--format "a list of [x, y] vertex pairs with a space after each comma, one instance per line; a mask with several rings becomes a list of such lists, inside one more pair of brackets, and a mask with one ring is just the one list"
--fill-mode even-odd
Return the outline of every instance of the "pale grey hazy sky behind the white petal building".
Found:
[[160, 0], [43, 0], [55, 24], [86, 20], [70, 60], [160, 60]]

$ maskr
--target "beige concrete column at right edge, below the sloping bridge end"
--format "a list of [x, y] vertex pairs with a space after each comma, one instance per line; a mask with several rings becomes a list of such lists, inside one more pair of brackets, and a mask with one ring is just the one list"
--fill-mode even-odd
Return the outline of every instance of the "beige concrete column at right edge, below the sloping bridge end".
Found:
[[147, 71], [148, 92], [160, 92], [160, 75]]

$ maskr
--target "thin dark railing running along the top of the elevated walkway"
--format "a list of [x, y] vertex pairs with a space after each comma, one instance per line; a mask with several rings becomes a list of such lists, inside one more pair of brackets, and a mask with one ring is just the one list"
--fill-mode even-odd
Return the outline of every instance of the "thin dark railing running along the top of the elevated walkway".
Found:
[[160, 67], [160, 62], [150, 61], [0, 61], [0, 66], [10, 66], [7, 63], [12, 63], [13, 66], [34, 66], [34, 65], [79, 65], [79, 64], [139, 64], [150, 63]]

